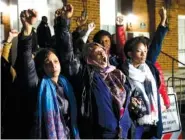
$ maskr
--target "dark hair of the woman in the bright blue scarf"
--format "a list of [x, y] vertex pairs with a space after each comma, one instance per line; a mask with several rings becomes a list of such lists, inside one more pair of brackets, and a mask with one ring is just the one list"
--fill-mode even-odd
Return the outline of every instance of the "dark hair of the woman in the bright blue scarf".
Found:
[[44, 71], [44, 63], [45, 59], [48, 57], [50, 53], [54, 53], [56, 55], [55, 50], [51, 48], [42, 48], [36, 53], [34, 61], [37, 75], [39, 78], [43, 78], [43, 76], [46, 75]]

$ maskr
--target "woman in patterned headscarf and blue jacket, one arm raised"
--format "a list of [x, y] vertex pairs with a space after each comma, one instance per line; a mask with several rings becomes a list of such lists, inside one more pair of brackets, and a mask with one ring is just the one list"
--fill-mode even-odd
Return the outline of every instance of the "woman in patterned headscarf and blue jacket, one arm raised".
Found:
[[[56, 50], [63, 73], [74, 87], [78, 106], [78, 128], [82, 139], [127, 138], [131, 120], [128, 112], [129, 93], [125, 76], [114, 66], [104, 47], [98, 43], [84, 44], [82, 57], [75, 54], [69, 31], [70, 10], [56, 11]], [[62, 47], [61, 47], [62, 46]]]

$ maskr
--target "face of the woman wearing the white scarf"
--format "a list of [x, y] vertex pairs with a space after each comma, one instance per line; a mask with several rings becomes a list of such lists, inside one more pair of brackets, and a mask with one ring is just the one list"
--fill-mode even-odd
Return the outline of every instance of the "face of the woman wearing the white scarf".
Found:
[[133, 50], [129, 54], [132, 59], [133, 65], [137, 67], [140, 64], [145, 63], [147, 52], [148, 52], [147, 46], [144, 45], [143, 43], [139, 43], [135, 50]]

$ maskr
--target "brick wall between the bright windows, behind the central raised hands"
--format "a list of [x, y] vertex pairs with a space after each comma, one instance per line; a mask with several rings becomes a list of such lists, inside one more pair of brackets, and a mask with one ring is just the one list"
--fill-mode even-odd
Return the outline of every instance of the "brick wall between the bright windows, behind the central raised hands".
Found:
[[[76, 28], [76, 19], [81, 15], [83, 11], [82, 0], [68, 0], [74, 6], [74, 15], [72, 18], [71, 31]], [[95, 30], [91, 33], [89, 39], [91, 40], [94, 34], [100, 30], [100, 1], [99, 0], [87, 0], [87, 13], [88, 23], [94, 21], [96, 24]]]

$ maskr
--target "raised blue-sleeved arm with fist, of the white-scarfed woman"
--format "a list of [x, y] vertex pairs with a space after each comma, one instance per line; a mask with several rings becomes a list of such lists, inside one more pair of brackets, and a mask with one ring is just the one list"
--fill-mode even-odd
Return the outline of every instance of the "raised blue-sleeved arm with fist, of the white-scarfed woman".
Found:
[[155, 35], [152, 39], [151, 45], [149, 46], [147, 60], [155, 63], [157, 58], [161, 52], [162, 42], [164, 37], [168, 31], [168, 27], [166, 26], [167, 22], [167, 12], [164, 7], [159, 10], [159, 15], [161, 18], [161, 22], [155, 32]]

